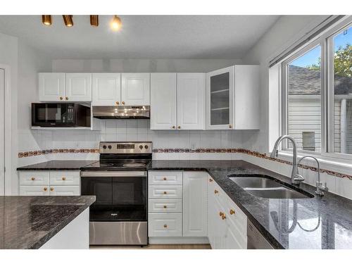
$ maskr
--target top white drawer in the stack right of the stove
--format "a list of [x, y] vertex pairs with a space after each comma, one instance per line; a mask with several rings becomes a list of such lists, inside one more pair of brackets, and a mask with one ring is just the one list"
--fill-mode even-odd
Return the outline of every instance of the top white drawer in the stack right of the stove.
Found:
[[153, 185], [182, 185], [181, 171], [150, 171], [148, 173], [149, 184]]

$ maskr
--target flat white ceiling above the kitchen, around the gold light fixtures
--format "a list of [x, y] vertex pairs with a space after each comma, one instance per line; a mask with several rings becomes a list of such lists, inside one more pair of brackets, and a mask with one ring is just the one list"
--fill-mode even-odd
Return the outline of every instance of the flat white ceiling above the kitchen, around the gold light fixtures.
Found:
[[61, 15], [42, 25], [40, 15], [0, 15], [0, 32], [19, 37], [52, 58], [242, 58], [276, 22], [277, 15], [122, 15], [112, 32], [112, 15]]

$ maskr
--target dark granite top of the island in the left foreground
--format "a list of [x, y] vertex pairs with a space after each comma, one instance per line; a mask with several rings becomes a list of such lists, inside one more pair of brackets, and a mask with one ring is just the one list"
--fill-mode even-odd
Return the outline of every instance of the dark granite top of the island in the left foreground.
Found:
[[0, 196], [0, 249], [39, 249], [95, 196]]

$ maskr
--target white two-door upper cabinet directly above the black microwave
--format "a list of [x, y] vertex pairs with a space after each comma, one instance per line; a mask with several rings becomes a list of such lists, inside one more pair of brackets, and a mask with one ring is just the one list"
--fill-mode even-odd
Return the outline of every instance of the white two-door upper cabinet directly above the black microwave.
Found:
[[39, 73], [39, 101], [92, 101], [92, 74]]

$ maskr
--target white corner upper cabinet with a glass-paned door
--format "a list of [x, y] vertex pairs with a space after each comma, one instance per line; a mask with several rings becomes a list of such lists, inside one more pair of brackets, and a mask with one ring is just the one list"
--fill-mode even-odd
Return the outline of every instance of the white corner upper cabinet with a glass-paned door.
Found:
[[259, 92], [258, 65], [234, 65], [207, 73], [207, 129], [259, 129]]

